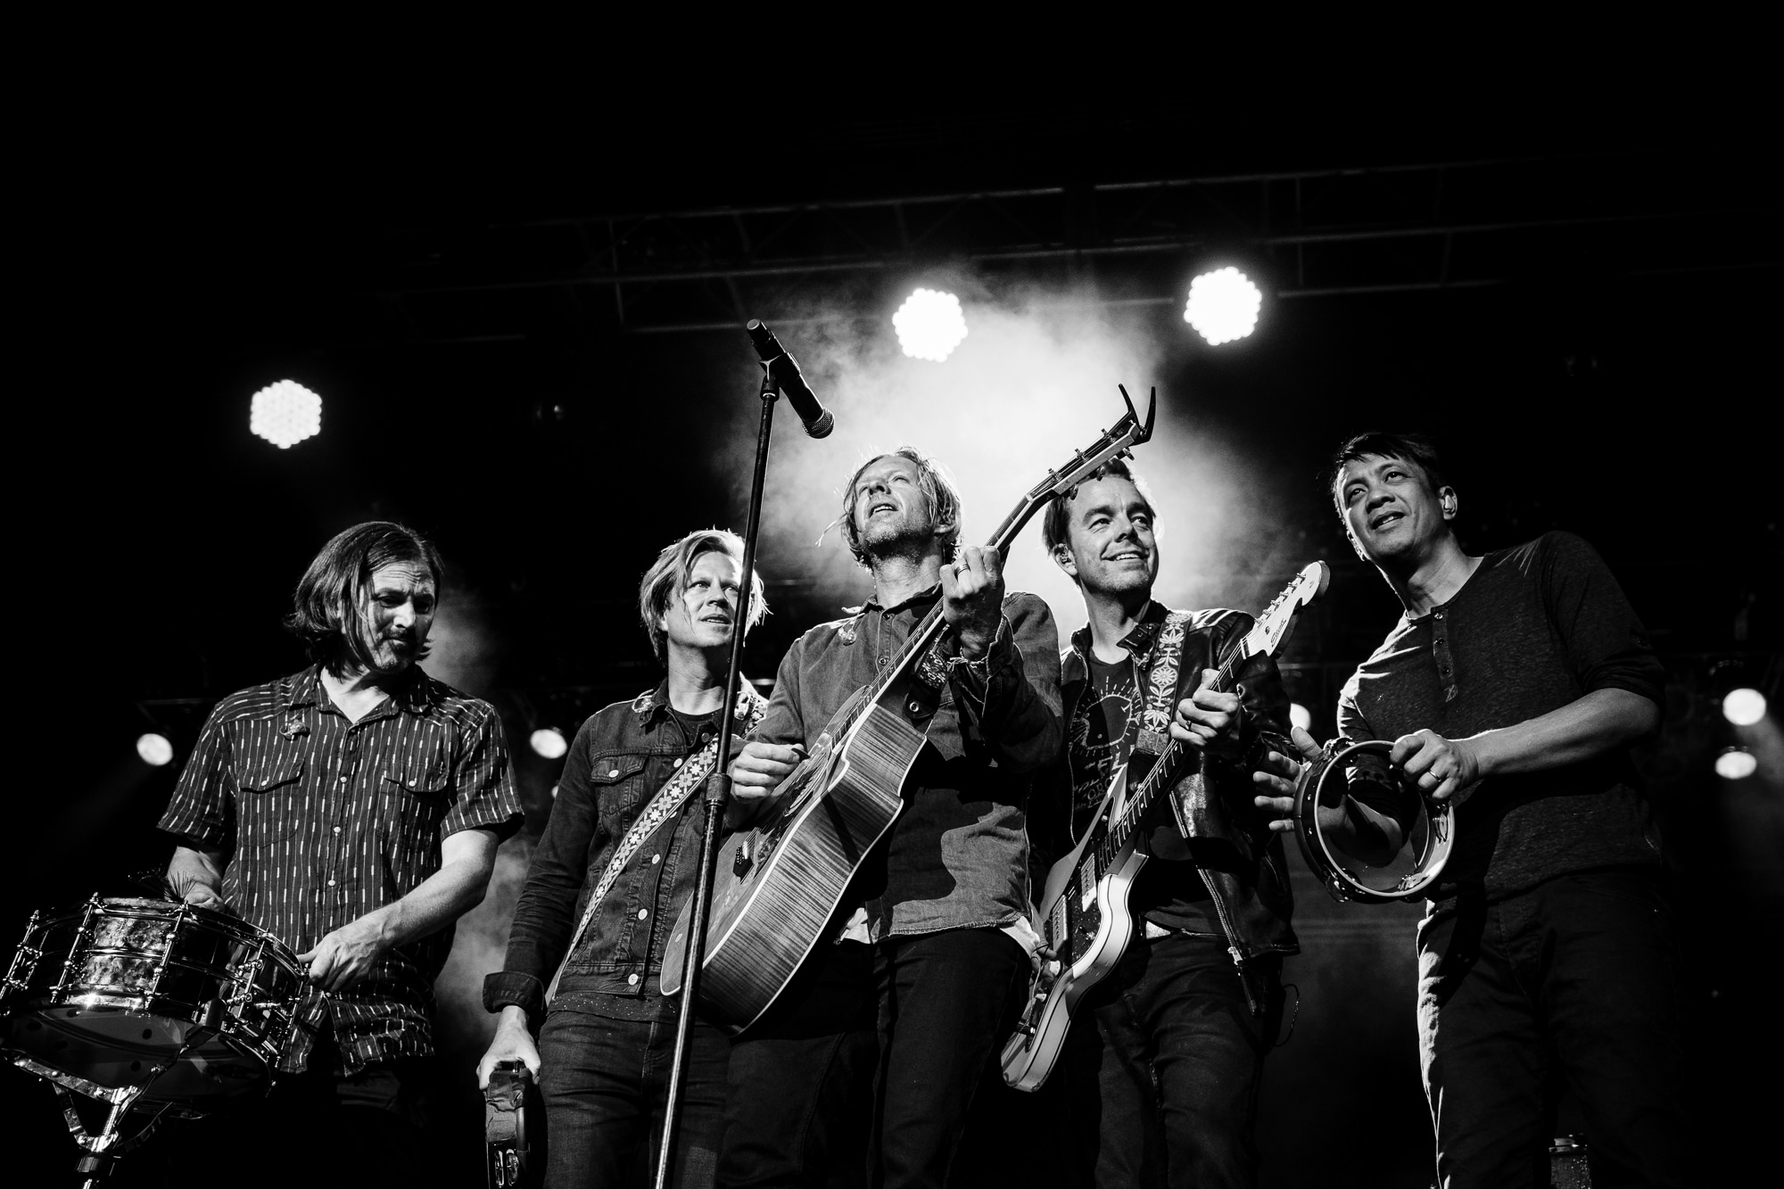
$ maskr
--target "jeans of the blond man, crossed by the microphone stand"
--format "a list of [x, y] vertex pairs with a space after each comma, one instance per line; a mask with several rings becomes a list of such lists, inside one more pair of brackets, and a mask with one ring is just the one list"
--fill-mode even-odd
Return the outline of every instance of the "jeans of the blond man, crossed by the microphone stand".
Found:
[[[539, 1030], [546, 1189], [653, 1184], [674, 1034], [674, 1019], [608, 1019], [564, 1000], [551, 1005]], [[680, 1189], [712, 1185], [730, 1048], [723, 1032], [694, 1023], [674, 1139], [671, 1184]]]

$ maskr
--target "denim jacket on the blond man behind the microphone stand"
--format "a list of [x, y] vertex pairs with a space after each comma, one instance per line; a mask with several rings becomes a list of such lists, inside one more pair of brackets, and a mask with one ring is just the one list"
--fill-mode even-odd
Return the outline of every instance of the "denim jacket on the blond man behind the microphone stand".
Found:
[[[744, 727], [735, 719], [739, 737]], [[632, 702], [615, 702], [582, 725], [514, 907], [507, 959], [483, 982], [483, 1007], [500, 1010], [514, 1003], [539, 1021], [544, 989], [626, 830], [717, 730], [714, 712], [694, 737], [685, 737], [669, 711], [667, 684]], [[557, 1002], [623, 1019], [674, 1014], [674, 1000], [657, 989], [657, 973], [669, 930], [694, 891], [705, 819], [696, 789], [639, 846], [569, 955]]]

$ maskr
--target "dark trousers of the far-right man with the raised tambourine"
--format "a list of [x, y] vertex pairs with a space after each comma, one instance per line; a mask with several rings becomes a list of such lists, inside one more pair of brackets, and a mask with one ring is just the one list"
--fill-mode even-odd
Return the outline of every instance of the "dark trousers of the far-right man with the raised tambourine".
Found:
[[1659, 882], [1568, 875], [1418, 928], [1418, 1032], [1445, 1189], [1549, 1185], [1565, 1082], [1593, 1185], [1686, 1185], [1682, 996]]

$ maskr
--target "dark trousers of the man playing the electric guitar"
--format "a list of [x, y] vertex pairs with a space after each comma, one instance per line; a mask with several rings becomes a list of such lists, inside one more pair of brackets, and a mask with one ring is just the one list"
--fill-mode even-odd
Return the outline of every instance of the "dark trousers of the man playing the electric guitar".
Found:
[[1260, 975], [1254, 1012], [1224, 939], [1133, 939], [1067, 1035], [1085, 1182], [1256, 1184], [1252, 1123], [1283, 1002], [1279, 962]]

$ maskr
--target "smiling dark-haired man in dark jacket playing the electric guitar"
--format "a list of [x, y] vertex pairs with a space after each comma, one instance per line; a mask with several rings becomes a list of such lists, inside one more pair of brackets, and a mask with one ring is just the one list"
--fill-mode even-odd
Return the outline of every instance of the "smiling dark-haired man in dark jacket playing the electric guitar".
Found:
[[[1263, 1055], [1281, 1019], [1281, 959], [1297, 944], [1283, 846], [1254, 805], [1247, 759], [1283, 746], [1288, 698], [1267, 653], [1238, 668], [1236, 693], [1210, 687], [1252, 618], [1152, 600], [1152, 514], [1113, 461], [1042, 521], [1088, 614], [1063, 657], [1072, 837], [1119, 811], [1111, 778], [1149, 768], [1167, 732], [1201, 753], [1163, 798], [1170, 811], [1140, 832], [1133, 939], [1086, 994], [1061, 1060], [1085, 1175], [1094, 1168], [1101, 1189], [1252, 1185]], [[1045, 825], [1063, 818], [1060, 807]]]

